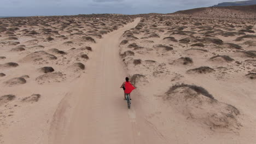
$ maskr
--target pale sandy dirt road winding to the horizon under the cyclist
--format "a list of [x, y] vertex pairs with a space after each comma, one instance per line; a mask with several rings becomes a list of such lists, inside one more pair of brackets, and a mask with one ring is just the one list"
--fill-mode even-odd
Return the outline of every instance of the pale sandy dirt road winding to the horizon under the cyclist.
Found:
[[119, 57], [120, 37], [138, 22], [105, 35], [92, 46], [87, 74], [55, 112], [49, 143], [165, 143], [144, 118], [139, 93], [133, 92], [128, 110], [119, 88], [126, 76]]

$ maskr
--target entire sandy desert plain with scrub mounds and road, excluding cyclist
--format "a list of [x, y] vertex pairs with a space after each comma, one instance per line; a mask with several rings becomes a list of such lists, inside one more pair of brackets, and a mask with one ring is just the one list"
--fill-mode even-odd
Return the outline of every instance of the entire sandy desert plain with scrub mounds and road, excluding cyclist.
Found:
[[0, 143], [255, 143], [255, 20], [206, 11], [0, 19]]

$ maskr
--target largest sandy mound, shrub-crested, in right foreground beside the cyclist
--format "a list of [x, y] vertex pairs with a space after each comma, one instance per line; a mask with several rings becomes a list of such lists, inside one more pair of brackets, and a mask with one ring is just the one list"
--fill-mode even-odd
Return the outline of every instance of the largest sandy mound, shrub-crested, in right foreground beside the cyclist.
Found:
[[236, 107], [214, 99], [206, 89], [194, 85], [177, 84], [164, 96], [177, 111], [194, 122], [210, 127], [212, 130], [240, 129], [237, 121], [240, 111]]

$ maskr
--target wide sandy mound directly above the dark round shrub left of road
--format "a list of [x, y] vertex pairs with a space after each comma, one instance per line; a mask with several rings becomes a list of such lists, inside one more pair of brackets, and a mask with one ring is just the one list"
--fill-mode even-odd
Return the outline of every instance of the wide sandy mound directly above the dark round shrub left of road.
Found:
[[53, 60], [53, 59], [57, 59], [57, 57], [45, 51], [36, 51], [22, 58], [21, 61], [22, 62], [38, 62], [38, 61], [47, 61], [47, 60]]

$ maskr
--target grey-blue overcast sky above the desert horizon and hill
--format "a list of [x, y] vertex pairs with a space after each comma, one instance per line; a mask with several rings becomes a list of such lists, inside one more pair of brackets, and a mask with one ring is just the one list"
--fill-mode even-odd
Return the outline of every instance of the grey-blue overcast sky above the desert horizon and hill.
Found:
[[237, 0], [0, 0], [0, 16], [173, 13], [227, 1]]

